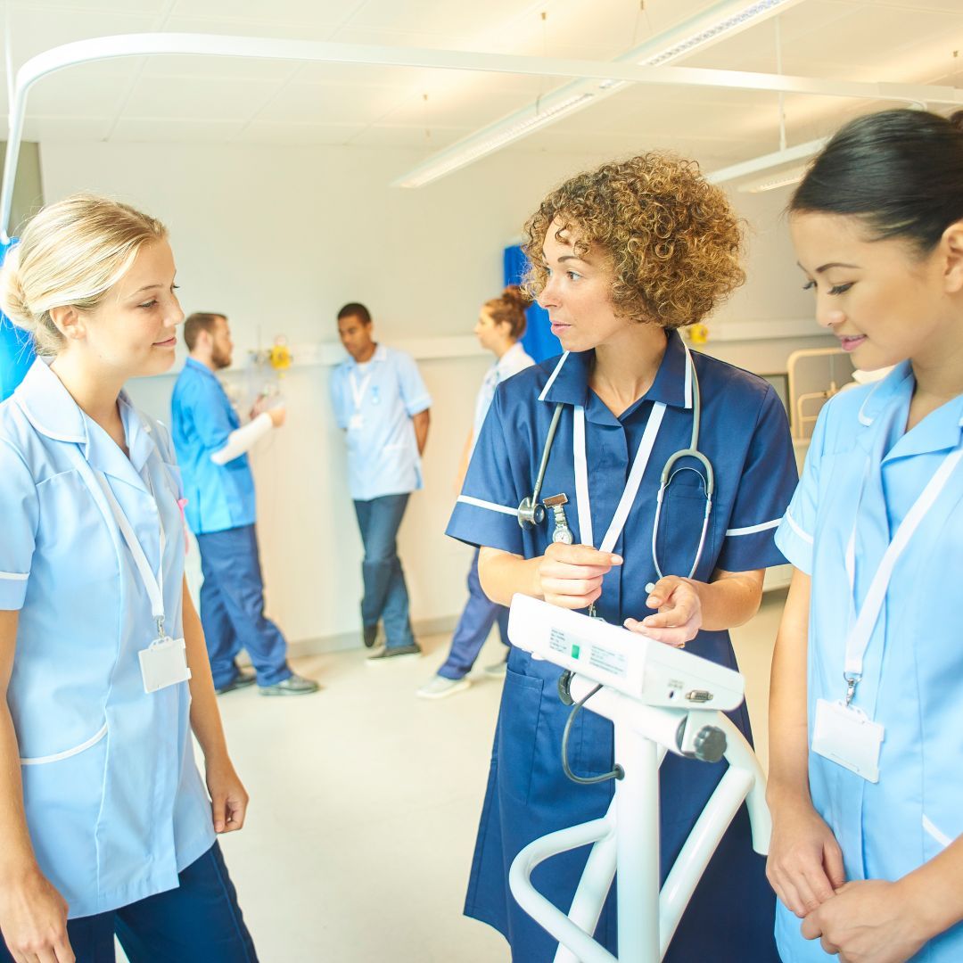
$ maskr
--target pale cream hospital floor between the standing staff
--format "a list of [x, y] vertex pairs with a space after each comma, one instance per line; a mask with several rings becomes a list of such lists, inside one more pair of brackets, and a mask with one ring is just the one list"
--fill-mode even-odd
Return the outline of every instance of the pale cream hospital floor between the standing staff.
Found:
[[[769, 593], [734, 633], [765, 762], [772, 644], [785, 601]], [[251, 796], [243, 832], [222, 839], [262, 963], [503, 963], [489, 927], [461, 915], [501, 680], [493, 636], [471, 689], [415, 690], [443, 662], [426, 654], [365, 664], [356, 652], [300, 659], [318, 695], [221, 697], [235, 765]]]

